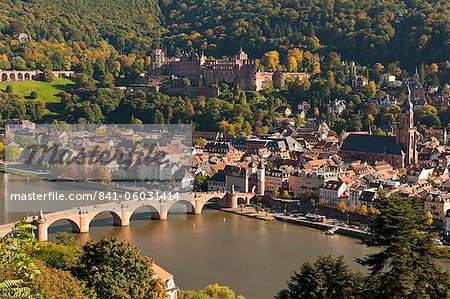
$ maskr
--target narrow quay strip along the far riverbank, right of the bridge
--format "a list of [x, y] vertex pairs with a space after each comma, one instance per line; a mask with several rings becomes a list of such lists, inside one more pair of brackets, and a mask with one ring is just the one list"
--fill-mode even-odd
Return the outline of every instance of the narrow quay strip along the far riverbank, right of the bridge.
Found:
[[238, 208], [238, 209], [231, 209], [231, 208], [219, 208], [214, 207], [216, 209], [219, 209], [221, 211], [227, 212], [227, 213], [233, 213], [240, 216], [245, 216], [249, 218], [254, 218], [258, 220], [264, 220], [264, 221], [283, 221], [288, 222], [296, 225], [301, 225], [309, 228], [314, 228], [321, 230], [322, 232], [325, 232], [327, 230], [332, 229], [335, 234], [356, 238], [356, 239], [363, 239], [367, 237], [368, 233], [363, 230], [358, 230], [350, 227], [344, 227], [344, 226], [336, 226], [331, 224], [331, 222], [336, 221], [336, 219], [328, 219], [327, 222], [313, 222], [306, 220], [305, 217], [294, 217], [294, 216], [286, 216], [282, 213], [267, 213], [267, 212], [256, 212], [253, 207], [244, 207], [244, 208]]

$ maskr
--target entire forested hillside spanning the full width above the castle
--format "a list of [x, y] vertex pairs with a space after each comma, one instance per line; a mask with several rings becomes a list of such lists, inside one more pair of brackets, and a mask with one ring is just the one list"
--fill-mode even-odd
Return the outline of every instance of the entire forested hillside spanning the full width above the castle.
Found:
[[242, 46], [260, 59], [278, 50], [281, 60], [300, 45], [364, 64], [400, 61], [411, 70], [448, 59], [449, 6], [445, 0], [7, 0], [0, 4], [0, 69], [119, 77], [143, 71], [149, 50], [161, 45], [172, 55], [204, 49], [216, 56]]

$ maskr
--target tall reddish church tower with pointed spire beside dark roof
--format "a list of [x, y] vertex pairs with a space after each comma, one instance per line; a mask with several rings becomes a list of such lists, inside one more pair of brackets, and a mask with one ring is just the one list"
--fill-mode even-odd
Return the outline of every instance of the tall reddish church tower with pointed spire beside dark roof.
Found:
[[408, 84], [408, 99], [402, 105], [400, 123], [397, 131], [397, 143], [405, 153], [405, 165], [418, 161], [417, 130], [414, 127], [414, 107], [411, 102], [411, 87]]

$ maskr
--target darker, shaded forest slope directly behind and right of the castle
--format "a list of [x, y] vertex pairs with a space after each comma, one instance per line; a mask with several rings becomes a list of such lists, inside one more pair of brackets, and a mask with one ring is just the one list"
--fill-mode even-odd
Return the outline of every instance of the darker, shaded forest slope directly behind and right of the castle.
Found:
[[361, 63], [444, 61], [449, 2], [334, 0], [166, 0], [163, 11], [173, 51], [203, 48], [231, 54], [244, 46], [261, 57], [299, 44], [342, 53]]

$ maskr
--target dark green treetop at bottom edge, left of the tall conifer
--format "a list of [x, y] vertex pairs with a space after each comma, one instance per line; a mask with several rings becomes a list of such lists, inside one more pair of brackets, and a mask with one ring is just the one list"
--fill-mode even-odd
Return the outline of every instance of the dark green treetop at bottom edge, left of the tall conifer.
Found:
[[277, 299], [362, 298], [364, 275], [352, 271], [343, 256], [321, 256], [294, 272]]

